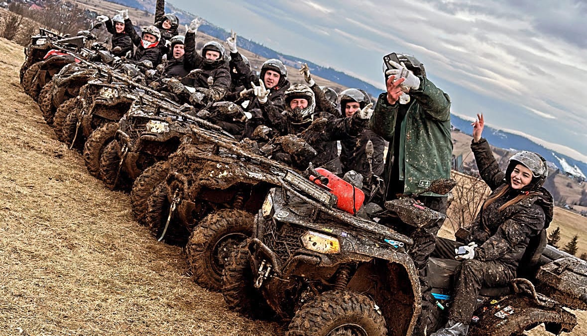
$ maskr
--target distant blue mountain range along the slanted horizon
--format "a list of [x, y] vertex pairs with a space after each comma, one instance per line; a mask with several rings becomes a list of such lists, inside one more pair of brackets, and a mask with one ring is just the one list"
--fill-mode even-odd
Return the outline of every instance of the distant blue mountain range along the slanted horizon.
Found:
[[[147, 11], [152, 11], [155, 5], [155, 0], [143, 0], [140, 2], [137, 0], [116, 0], [112, 2]], [[195, 15], [175, 8], [174, 6], [167, 5], [166, 12], [175, 13], [180, 19], [180, 23], [182, 25], [190, 23], [191, 20], [195, 18]], [[207, 35], [213, 36], [220, 40], [225, 40], [230, 35], [230, 33], [225, 31], [225, 29], [215, 26], [210, 22], [206, 22], [201, 25], [198, 31], [206, 33]], [[301, 63], [308, 63], [312, 74], [320, 76], [324, 79], [332, 80], [332, 82], [339, 83], [340, 85], [346, 86], [347, 88], [363, 89], [373, 97], [379, 96], [379, 94], [382, 92], [382, 89], [376, 88], [375, 86], [363, 82], [362, 80], [353, 76], [349, 76], [344, 72], [340, 72], [332, 68], [325, 68], [323, 66], [317, 65], [316, 63], [309, 62], [305, 59], [297, 58], [295, 56], [285, 55], [242, 36], [239, 36], [238, 46], [239, 48], [247, 49], [248, 51], [256, 53], [257, 55], [264, 58], [280, 59], [286, 65], [294, 66], [296, 68], [298, 68]], [[460, 129], [461, 132], [471, 134], [470, 121], [464, 120], [459, 116], [452, 115], [451, 123], [454, 127]], [[554, 163], [556, 167], [561, 169], [563, 172], [575, 174], [576, 176], [585, 176], [583, 172], [587, 172], [587, 163], [572, 159], [571, 157], [561, 153], [553, 152], [552, 150], [547, 149], [542, 145], [538, 145], [537, 143], [532, 142], [532, 140], [529, 140], [523, 136], [514, 135], [512, 133], [507, 133], [498, 129], [492, 129], [491, 127], [487, 126], [485, 127], [484, 136], [488, 142], [490, 142], [491, 145], [495, 147], [515, 150], [530, 150], [532, 152], [537, 152], [544, 156], [546, 160]]]

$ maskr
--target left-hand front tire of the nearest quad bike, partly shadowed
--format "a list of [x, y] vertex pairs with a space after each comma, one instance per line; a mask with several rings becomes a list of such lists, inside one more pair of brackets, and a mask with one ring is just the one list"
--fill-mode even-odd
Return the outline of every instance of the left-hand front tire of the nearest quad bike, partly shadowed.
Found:
[[240, 244], [228, 258], [222, 273], [222, 297], [233, 311], [254, 320], [274, 316], [261, 291], [254, 287], [248, 240]]

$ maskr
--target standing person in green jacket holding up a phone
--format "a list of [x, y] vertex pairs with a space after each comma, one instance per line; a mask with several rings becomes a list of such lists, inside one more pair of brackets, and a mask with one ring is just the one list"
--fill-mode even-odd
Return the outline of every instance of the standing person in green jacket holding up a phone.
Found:
[[[433, 180], [450, 178], [453, 142], [450, 98], [426, 77], [424, 65], [414, 56], [400, 53], [384, 56], [384, 61], [387, 90], [377, 99], [369, 127], [389, 141], [383, 172], [384, 200], [393, 200], [402, 194], [424, 191]], [[407, 103], [410, 99], [413, 102]], [[417, 199], [430, 209], [446, 214], [447, 196], [425, 193]], [[402, 233], [414, 241], [408, 253], [423, 288], [423, 319], [436, 307], [426, 273], [442, 224], [443, 221], [438, 221], [436, 226], [424, 229], [402, 228]], [[422, 320], [418, 326], [430, 330]]]

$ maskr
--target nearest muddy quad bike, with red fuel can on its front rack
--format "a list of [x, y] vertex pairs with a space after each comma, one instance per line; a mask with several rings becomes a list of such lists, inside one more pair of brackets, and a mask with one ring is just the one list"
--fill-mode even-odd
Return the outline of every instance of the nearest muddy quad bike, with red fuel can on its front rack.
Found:
[[[269, 191], [252, 238], [227, 261], [225, 301], [249, 317], [291, 318], [289, 336], [411, 335], [421, 312], [419, 278], [406, 253], [412, 241], [380, 224], [383, 218], [377, 223], [353, 216], [364, 197], [360, 190], [327, 170], [316, 169], [310, 179], [288, 172], [283, 187]], [[387, 216], [387, 223], [395, 217], [396, 224], [424, 227], [444, 219], [414, 199], [387, 201], [385, 207], [387, 214], [376, 213]], [[522, 291], [521, 283], [521, 292], [535, 293], [531, 286]], [[480, 321], [468, 335], [519, 335], [541, 322], [564, 331], [576, 324], [553, 300], [490, 295], [484, 302], [491, 309], [478, 307]], [[500, 318], [512, 307], [521, 317]]]

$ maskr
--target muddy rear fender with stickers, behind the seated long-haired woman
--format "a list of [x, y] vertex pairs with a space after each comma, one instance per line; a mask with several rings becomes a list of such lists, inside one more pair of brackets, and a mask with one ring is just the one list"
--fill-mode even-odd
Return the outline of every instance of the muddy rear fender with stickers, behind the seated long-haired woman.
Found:
[[548, 307], [532, 298], [512, 294], [477, 308], [468, 335], [521, 335], [543, 322], [546, 331], [555, 335], [570, 332], [577, 324], [575, 315], [560, 305]]

